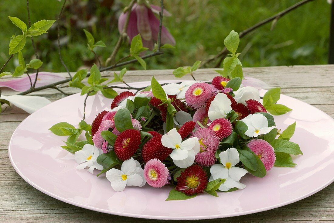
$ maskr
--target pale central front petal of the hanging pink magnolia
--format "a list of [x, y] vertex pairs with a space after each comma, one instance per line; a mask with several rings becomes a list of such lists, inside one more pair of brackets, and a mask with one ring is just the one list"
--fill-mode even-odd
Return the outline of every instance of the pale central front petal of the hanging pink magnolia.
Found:
[[152, 31], [148, 17], [149, 9], [145, 5], [138, 5], [135, 10], [137, 15], [137, 29], [142, 36], [142, 39], [151, 40]]

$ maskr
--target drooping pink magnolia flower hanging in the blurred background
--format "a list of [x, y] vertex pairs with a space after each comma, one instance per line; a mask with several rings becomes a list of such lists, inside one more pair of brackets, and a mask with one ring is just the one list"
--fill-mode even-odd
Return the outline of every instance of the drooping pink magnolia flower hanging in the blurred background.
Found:
[[[151, 5], [151, 8], [148, 8], [145, 4], [135, 3], [131, 9], [129, 25], [127, 29], [127, 34], [131, 42], [132, 38], [138, 33], [140, 33], [143, 41], [143, 46], [153, 49], [153, 41], [158, 40], [159, 32], [159, 19], [155, 17], [154, 13], [159, 13], [160, 7], [156, 5]], [[123, 31], [125, 20], [128, 12], [123, 13], [118, 18], [118, 30], [120, 33]], [[170, 16], [171, 14], [164, 10], [164, 16]], [[165, 26], [162, 26], [161, 29], [161, 44], [169, 43], [175, 45], [175, 39], [166, 29]]]

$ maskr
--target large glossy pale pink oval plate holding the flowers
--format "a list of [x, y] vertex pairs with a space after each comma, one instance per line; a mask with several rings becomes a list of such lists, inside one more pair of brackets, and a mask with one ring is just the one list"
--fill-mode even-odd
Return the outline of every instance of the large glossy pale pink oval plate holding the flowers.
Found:
[[[133, 83], [143, 87], [149, 82]], [[261, 91], [262, 95], [265, 91]], [[293, 157], [295, 168], [274, 167], [265, 178], [242, 178], [243, 190], [207, 194], [184, 201], [165, 201], [170, 187], [127, 187], [115, 192], [105, 176], [76, 170], [74, 155], [60, 148], [66, 137], [48, 129], [58, 122], [78, 123], [85, 96], [75, 94], [55, 101], [26, 118], [9, 143], [9, 158], [17, 173], [34, 188], [66, 203], [115, 215], [152, 219], [208, 219], [251, 214], [306, 198], [334, 181], [334, 120], [317, 108], [282, 95], [279, 103], [293, 111], [276, 116], [285, 129], [297, 121], [292, 141], [304, 155]], [[110, 107], [112, 99], [91, 96], [87, 122]], [[95, 174], [97, 174], [95, 172]]]

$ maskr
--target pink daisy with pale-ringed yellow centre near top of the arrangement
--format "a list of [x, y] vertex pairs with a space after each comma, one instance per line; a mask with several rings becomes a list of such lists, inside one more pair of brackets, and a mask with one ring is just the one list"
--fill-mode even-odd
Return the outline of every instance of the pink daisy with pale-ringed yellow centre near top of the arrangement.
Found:
[[200, 108], [212, 96], [214, 88], [208, 83], [195, 83], [191, 85], [185, 94], [186, 102], [193, 108]]

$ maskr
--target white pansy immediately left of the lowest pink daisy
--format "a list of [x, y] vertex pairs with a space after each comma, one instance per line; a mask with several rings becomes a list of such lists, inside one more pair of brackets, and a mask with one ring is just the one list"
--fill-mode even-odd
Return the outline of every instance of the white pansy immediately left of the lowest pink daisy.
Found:
[[144, 170], [139, 162], [130, 158], [122, 163], [121, 170], [111, 169], [107, 171], [106, 177], [115, 191], [123, 191], [125, 186], [142, 187], [146, 184]]

